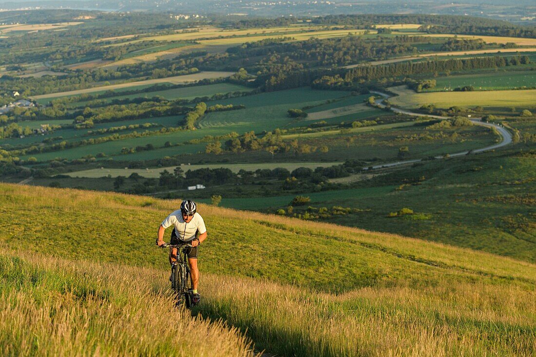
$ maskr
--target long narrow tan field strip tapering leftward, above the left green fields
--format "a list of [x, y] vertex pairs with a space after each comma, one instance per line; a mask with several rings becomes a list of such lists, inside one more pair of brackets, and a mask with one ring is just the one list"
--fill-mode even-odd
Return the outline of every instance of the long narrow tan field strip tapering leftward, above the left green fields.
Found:
[[70, 95], [78, 95], [78, 94], [101, 92], [101, 91], [112, 91], [112, 90], [116, 90], [120, 88], [148, 86], [148, 85], [161, 84], [161, 83], [187, 84], [187, 83], [196, 82], [202, 79], [229, 77], [233, 74], [234, 74], [233, 72], [203, 71], [199, 73], [193, 73], [192, 75], [174, 76], [174, 77], [166, 77], [166, 78], [158, 78], [158, 79], [147, 79], [147, 80], [140, 80], [140, 81], [129, 82], [129, 83], [114, 84], [114, 85], [109, 85], [109, 86], [86, 88], [84, 90], [34, 95], [32, 96], [32, 99], [38, 100], [38, 99], [59, 98], [61, 96], [70, 96]]

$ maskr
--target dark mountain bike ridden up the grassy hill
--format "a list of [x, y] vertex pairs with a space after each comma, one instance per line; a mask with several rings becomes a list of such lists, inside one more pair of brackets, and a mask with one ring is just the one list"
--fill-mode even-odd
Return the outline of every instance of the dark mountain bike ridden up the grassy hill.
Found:
[[177, 306], [190, 309], [193, 305], [192, 279], [188, 266], [187, 248], [191, 244], [167, 244], [163, 243], [160, 248], [177, 248], [177, 260], [171, 266], [171, 288], [177, 296]]

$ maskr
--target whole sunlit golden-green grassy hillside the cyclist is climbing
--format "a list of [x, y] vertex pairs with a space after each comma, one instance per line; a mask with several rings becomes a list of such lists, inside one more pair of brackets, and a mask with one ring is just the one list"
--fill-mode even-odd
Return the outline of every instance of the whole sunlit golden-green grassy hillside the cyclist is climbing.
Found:
[[[101, 321], [84, 315], [91, 305], [93, 314], [108, 311], [110, 319], [100, 323], [124, 336], [122, 329], [140, 331], [136, 323], [152, 321], [144, 314], [152, 314], [155, 303], [159, 316], [166, 316], [167, 259], [153, 244], [159, 223], [178, 201], [2, 184], [0, 202], [7, 246], [2, 252], [7, 262], [2, 294], [20, 295], [21, 282], [32, 281], [24, 285], [24, 306], [42, 311], [43, 324], [61, 311], [63, 321], [84, 316], [91, 326]], [[536, 351], [534, 264], [260, 213], [203, 205], [199, 212], [209, 239], [199, 261], [204, 300], [194, 313], [224, 318], [254, 340], [256, 349], [301, 356], [528, 356]], [[11, 252], [23, 244], [42, 255], [31, 259]], [[86, 267], [81, 264], [85, 261], [96, 265], [84, 263]], [[125, 263], [131, 266], [126, 276], [120, 273], [123, 267], [114, 265]], [[84, 277], [87, 285], [76, 285], [72, 274]], [[120, 282], [116, 285], [114, 279]], [[85, 300], [80, 304], [69, 292]], [[4, 316], [20, 316], [20, 333], [0, 329], [3, 346], [22, 348], [25, 339], [44, 339], [32, 334], [33, 325], [20, 322], [33, 310], [13, 309], [8, 302], [15, 304], [15, 298], [2, 300]], [[125, 326], [125, 319], [136, 326]], [[61, 326], [78, 331], [73, 324], [81, 323], [75, 319]], [[88, 329], [89, 337], [80, 337], [77, 346], [108, 346], [105, 354], [158, 353], [135, 348], [150, 344], [144, 341], [165, 340], [155, 338], [150, 328], [136, 333], [134, 345], [122, 342], [124, 349], [111, 349], [120, 348], [113, 344], [116, 335]], [[247, 353], [247, 343], [235, 331], [227, 332], [221, 324], [205, 324], [205, 329], [214, 329], [214, 340], [228, 338], [234, 346], [220, 355]], [[198, 347], [210, 351], [210, 342], [206, 345]], [[59, 340], [39, 346], [45, 354], [72, 351]]]

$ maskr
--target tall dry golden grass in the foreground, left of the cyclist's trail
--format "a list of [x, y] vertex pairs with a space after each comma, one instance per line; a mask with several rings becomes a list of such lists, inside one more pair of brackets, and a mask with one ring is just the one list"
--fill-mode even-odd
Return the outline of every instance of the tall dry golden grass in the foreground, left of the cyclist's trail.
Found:
[[0, 251], [4, 356], [253, 356], [221, 321], [174, 308], [166, 272]]

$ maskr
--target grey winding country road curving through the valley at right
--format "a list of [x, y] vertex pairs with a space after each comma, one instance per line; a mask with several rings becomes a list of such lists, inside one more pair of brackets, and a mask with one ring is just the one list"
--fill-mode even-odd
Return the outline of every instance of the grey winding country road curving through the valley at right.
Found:
[[[389, 98], [388, 94], [385, 94], [385, 93], [382, 93], [382, 92], [370, 91], [370, 93], [381, 95], [381, 96], [383, 96], [384, 99]], [[380, 100], [376, 101], [376, 104], [378, 105], [378, 107], [380, 107], [380, 108], [385, 108], [386, 107], [383, 104], [384, 99], [380, 99]], [[413, 111], [404, 110], [404, 109], [400, 109], [400, 108], [394, 108], [394, 107], [391, 107], [390, 109], [394, 113], [400, 113], [400, 114], [405, 114], [405, 115], [410, 115], [410, 116], [426, 116], [426, 117], [435, 118], [435, 119], [450, 119], [451, 118], [450, 116], [439, 116], [439, 115], [431, 115], [431, 114], [414, 113]], [[493, 145], [489, 145], [489, 146], [482, 147], [482, 148], [479, 148], [479, 149], [471, 150], [471, 153], [476, 154], [476, 153], [485, 152], [485, 151], [489, 151], [489, 150], [495, 150], [496, 148], [509, 145], [512, 142], [512, 134], [508, 130], [504, 129], [503, 127], [501, 127], [498, 124], [481, 122], [480, 120], [481, 120], [480, 117], [471, 118], [471, 122], [473, 122], [473, 124], [475, 124], [475, 125], [481, 125], [482, 127], [487, 127], [487, 128], [495, 128], [497, 130], [497, 132], [501, 135], [502, 140], [501, 140], [500, 143], [497, 143], [497, 144], [493, 144]], [[469, 151], [461, 151], [461, 152], [449, 154], [449, 157], [452, 158], [452, 157], [467, 155], [468, 153], [469, 153]], [[443, 156], [436, 156], [435, 158], [436, 159], [442, 159]], [[377, 169], [377, 168], [393, 167], [393, 166], [406, 165], [408, 163], [414, 163], [414, 162], [419, 162], [419, 161], [422, 161], [422, 159], [413, 159], [413, 160], [404, 160], [404, 161], [397, 161], [397, 162], [382, 163], [380, 165], [372, 166], [371, 168]], [[367, 170], [369, 168], [370, 167], [368, 167], [368, 168], [364, 167], [363, 169]]]

